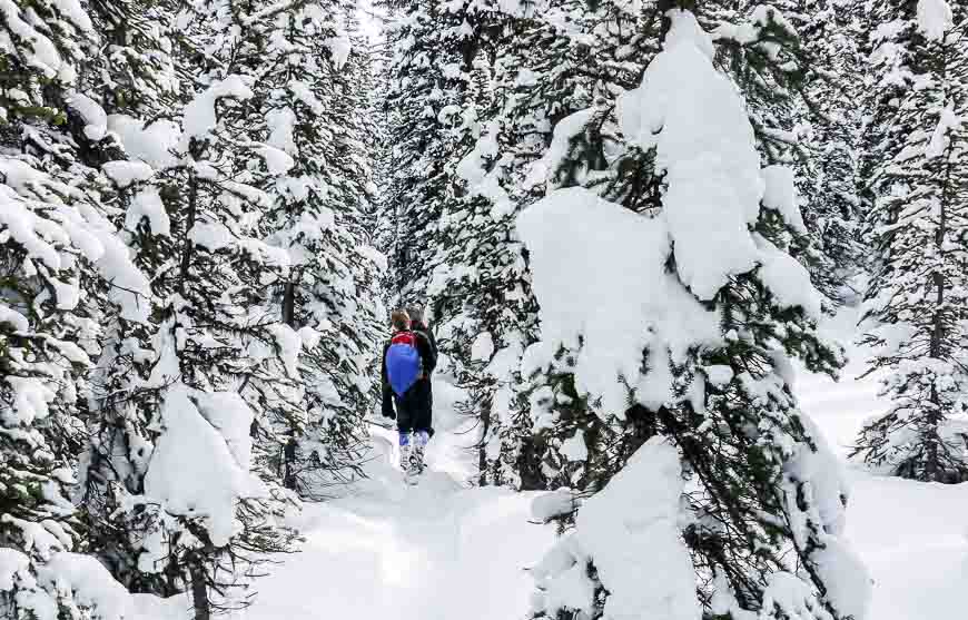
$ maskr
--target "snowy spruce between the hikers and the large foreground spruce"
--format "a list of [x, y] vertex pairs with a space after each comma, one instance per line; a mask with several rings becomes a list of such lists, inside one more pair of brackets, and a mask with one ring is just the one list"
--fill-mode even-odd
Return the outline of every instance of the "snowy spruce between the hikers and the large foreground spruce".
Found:
[[[536, 304], [514, 217], [541, 196], [546, 180], [602, 191], [618, 187], [624, 169], [611, 174], [605, 155], [616, 139], [615, 97], [641, 75], [634, 51], [649, 45], [643, 24], [658, 30], [658, 19], [650, 22], [621, 2], [540, 4], [524, 3], [503, 16], [492, 43], [495, 92], [478, 107], [482, 136], [458, 167], [478, 200], [470, 204], [474, 217], [461, 222], [462, 243], [448, 244], [463, 252], [452, 253], [447, 262], [458, 268], [453, 284], [441, 287], [455, 288], [454, 298], [478, 318], [463, 323], [465, 344], [454, 348], [464, 358], [461, 383], [473, 394], [472, 413], [482, 425], [481, 481], [529, 489], [545, 488], [551, 472], [565, 468], [557, 466], [557, 445], [533, 432], [518, 394], [521, 355], [536, 337]], [[654, 18], [654, 8], [646, 14]], [[555, 141], [552, 128], [559, 121], [571, 132]], [[550, 150], [566, 154], [573, 166], [547, 170], [543, 158]]]

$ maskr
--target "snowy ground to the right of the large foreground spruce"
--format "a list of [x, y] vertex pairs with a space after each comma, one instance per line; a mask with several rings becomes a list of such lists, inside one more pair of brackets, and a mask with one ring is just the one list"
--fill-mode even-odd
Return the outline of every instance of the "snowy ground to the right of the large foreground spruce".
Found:
[[[857, 314], [844, 311], [828, 324], [846, 341]], [[877, 376], [858, 380], [862, 350], [837, 383], [802, 373], [796, 385], [803, 410], [831, 446], [847, 455], [865, 419], [882, 412]], [[869, 620], [964, 618], [968, 593], [968, 483], [925, 484], [872, 475], [848, 465], [851, 482], [847, 537], [875, 579]]]

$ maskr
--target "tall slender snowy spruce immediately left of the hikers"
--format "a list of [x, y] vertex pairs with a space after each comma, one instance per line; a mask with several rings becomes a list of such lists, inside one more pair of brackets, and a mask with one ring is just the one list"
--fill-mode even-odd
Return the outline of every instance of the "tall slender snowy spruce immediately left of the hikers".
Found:
[[257, 116], [266, 142], [290, 165], [260, 184], [273, 200], [260, 228], [290, 265], [267, 302], [302, 338], [305, 383], [300, 406], [260, 432], [277, 444], [285, 485], [316, 499], [362, 460], [379, 334], [383, 260], [369, 240], [372, 80], [366, 52], [353, 46], [353, 11], [333, 1], [294, 4], [267, 21], [265, 42], [253, 48]]

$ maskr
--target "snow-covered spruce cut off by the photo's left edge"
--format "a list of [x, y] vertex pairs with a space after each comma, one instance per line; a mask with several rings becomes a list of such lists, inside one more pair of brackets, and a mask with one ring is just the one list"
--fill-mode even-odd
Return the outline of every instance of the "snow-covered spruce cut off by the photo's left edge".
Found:
[[87, 286], [124, 286], [134, 305], [148, 282], [127, 260], [97, 188], [65, 174], [68, 185], [43, 171], [47, 163], [0, 155], [0, 616], [115, 618], [125, 590], [75, 552], [88, 530], [69, 495], [85, 437], [78, 405], [100, 337]]

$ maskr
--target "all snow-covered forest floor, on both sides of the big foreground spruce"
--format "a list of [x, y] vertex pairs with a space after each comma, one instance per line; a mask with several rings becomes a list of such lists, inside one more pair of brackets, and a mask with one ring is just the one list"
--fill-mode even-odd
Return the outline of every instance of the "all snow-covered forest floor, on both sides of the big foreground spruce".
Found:
[[[832, 321], [847, 337], [856, 316]], [[802, 373], [803, 409], [846, 454], [863, 419], [883, 407], [877, 381], [857, 381], [852, 352], [834, 383]], [[460, 393], [435, 386], [439, 433], [431, 471], [406, 488], [395, 460], [395, 433], [374, 426], [369, 480], [355, 493], [308, 505], [302, 553], [257, 583], [245, 620], [504, 620], [527, 616], [526, 569], [551, 545], [549, 528], [529, 522], [531, 494], [467, 489], [471, 435], [453, 411]], [[965, 613], [968, 592], [968, 484], [945, 486], [873, 476], [848, 468], [852, 496], [848, 534], [876, 580], [870, 620], [948, 620]]]

